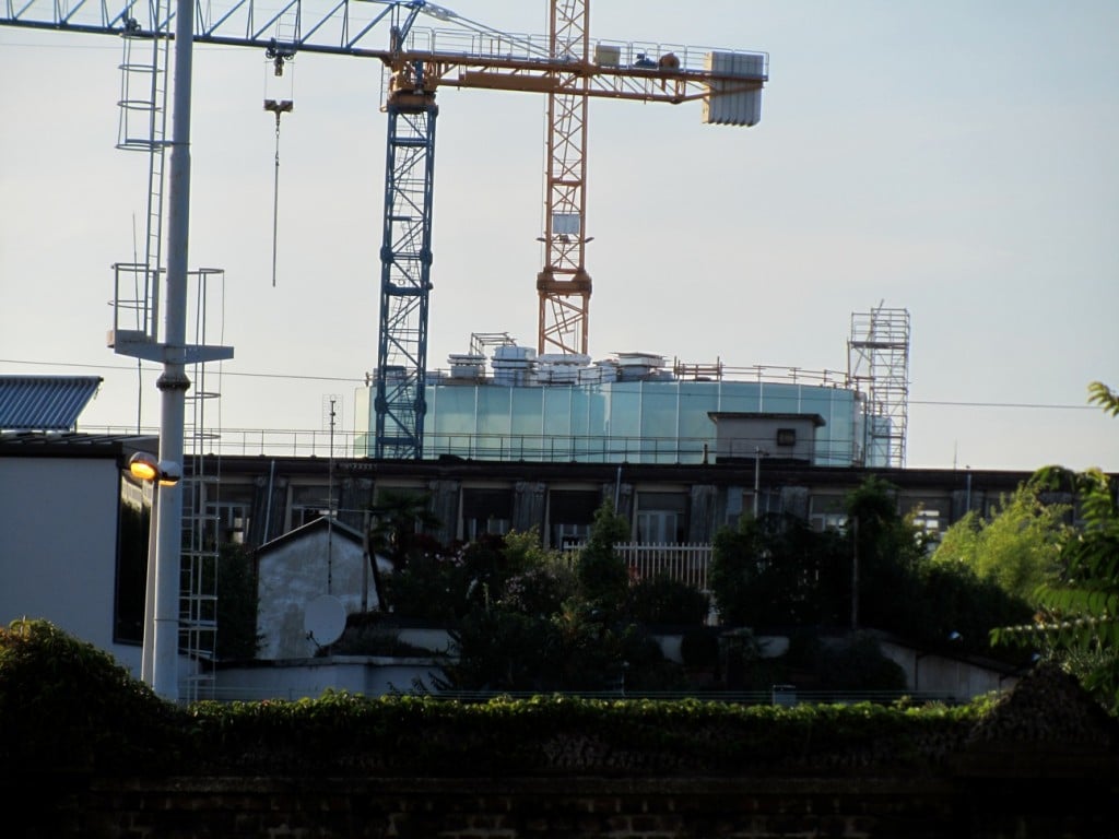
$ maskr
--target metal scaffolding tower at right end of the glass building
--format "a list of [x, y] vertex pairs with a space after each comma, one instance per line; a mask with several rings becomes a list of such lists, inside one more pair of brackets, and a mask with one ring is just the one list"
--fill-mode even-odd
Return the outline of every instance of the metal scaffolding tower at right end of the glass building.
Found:
[[909, 423], [910, 314], [882, 303], [853, 312], [847, 341], [847, 380], [866, 396], [864, 446], [867, 464], [905, 465]]

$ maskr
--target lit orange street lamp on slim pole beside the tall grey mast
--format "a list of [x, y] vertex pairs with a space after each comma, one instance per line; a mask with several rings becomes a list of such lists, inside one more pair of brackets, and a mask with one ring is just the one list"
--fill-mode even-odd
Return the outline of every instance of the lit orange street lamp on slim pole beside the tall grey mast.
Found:
[[[156, 686], [157, 658], [170, 666], [178, 666], [178, 618], [176, 632], [168, 638], [157, 633], [157, 620], [166, 620], [166, 615], [177, 615], [178, 581], [175, 575], [160, 574], [161, 568], [157, 550], [157, 524], [159, 521], [160, 487], [173, 487], [182, 479], [182, 468], [171, 461], [158, 461], [148, 452], [137, 452], [129, 458], [129, 474], [140, 481], [151, 484], [151, 519], [148, 522], [148, 573], [144, 579], [143, 598], [143, 653], [140, 658], [140, 678], [148, 687]], [[158, 618], [157, 618], [158, 615]], [[167, 643], [173, 645], [167, 651]], [[158, 654], [157, 653], [158, 644]], [[177, 684], [176, 673], [172, 684]]]

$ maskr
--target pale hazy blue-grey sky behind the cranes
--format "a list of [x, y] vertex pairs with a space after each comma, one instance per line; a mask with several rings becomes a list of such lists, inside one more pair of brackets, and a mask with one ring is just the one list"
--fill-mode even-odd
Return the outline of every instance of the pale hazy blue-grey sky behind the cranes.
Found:
[[[309, 3], [310, 4], [310, 3]], [[543, 35], [545, 0], [448, 0]], [[591, 355], [847, 369], [852, 315], [910, 313], [906, 465], [1119, 471], [1119, 3], [626, 0], [591, 37], [764, 51], [753, 128], [698, 103], [590, 105]], [[421, 21], [421, 26], [438, 26]], [[156, 428], [154, 365], [114, 355], [115, 263], [147, 155], [114, 148], [121, 44], [0, 26], [0, 374], [96, 375], [79, 427]], [[355, 427], [376, 365], [379, 63], [197, 46], [191, 270], [223, 430]], [[267, 97], [290, 97], [275, 122]], [[535, 346], [545, 98], [439, 94], [429, 362]], [[279, 189], [275, 185], [279, 180]], [[273, 216], [273, 208], [278, 207]], [[276, 274], [273, 285], [273, 225]]]

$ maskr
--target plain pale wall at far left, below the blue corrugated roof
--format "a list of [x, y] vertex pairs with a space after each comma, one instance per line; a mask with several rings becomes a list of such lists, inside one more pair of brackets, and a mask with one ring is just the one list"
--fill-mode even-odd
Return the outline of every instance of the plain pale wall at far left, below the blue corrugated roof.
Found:
[[113, 644], [115, 458], [0, 458], [0, 621], [50, 621], [139, 672]]

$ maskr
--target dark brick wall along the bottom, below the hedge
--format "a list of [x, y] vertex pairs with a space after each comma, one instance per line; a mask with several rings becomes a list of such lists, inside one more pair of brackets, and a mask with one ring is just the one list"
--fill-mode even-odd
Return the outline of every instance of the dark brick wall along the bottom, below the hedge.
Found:
[[[119, 779], [59, 790], [27, 837], [1112, 839], [1116, 772], [944, 777]], [[1065, 766], [1068, 770], [1069, 766]], [[1088, 767], [1083, 767], [1088, 769]], [[1103, 769], [1103, 767], [1097, 767]], [[1026, 775], [1031, 776], [1026, 776]], [[6, 793], [16, 793], [9, 788]], [[41, 790], [39, 790], [41, 793]], [[9, 827], [17, 802], [4, 795]], [[40, 800], [41, 801], [41, 800]], [[46, 802], [43, 802], [46, 803]], [[48, 814], [49, 813], [49, 814]], [[6, 836], [9, 833], [6, 833]], [[19, 833], [12, 833], [19, 836]]]

